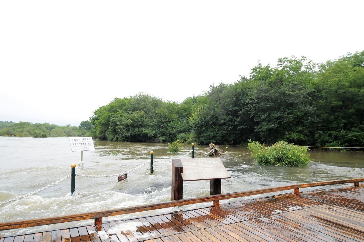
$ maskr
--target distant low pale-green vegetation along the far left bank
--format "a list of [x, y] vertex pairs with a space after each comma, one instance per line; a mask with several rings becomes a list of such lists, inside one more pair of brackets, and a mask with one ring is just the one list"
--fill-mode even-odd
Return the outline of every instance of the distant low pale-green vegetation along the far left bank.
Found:
[[70, 137], [91, 136], [92, 124], [90, 121], [82, 121], [80, 126], [58, 126], [55, 124], [32, 124], [30, 122], [15, 123], [12, 121], [0, 121], [0, 136], [17, 137]]

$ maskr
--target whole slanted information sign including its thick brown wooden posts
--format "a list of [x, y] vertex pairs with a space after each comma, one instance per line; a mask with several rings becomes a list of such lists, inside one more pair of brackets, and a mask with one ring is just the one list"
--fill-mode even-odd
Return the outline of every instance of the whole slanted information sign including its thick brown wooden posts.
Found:
[[[183, 182], [210, 180], [210, 195], [221, 194], [221, 179], [230, 178], [220, 158], [172, 160], [171, 200], [182, 199]], [[220, 201], [214, 201], [219, 207]]]

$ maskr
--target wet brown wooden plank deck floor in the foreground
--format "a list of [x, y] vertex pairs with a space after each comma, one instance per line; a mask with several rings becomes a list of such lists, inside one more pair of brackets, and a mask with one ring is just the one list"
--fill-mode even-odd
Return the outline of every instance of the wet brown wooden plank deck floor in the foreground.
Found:
[[82, 226], [9, 236], [0, 242], [364, 241], [364, 186], [278, 195], [102, 226], [99, 232]]

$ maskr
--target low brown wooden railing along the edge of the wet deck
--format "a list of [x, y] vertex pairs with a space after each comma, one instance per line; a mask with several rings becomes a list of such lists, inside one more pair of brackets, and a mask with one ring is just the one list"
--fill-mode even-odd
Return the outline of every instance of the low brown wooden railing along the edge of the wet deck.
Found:
[[232, 192], [232, 193], [226, 193], [226, 194], [211, 195], [211, 196], [205, 196], [202, 198], [188, 198], [188, 199], [174, 200], [174, 201], [162, 202], [162, 203], [115, 208], [115, 209], [111, 209], [111, 210], [87, 212], [87, 213], [83, 213], [83, 214], [72, 214], [72, 215], [57, 216], [57, 217], [50, 217], [50, 218], [20, 220], [20, 221], [16, 221], [16, 222], [0, 223], [0, 230], [20, 229], [20, 228], [26, 228], [26, 227], [50, 225], [50, 224], [54, 224], [54, 223], [72, 222], [72, 221], [79, 221], [79, 220], [86, 220], [86, 219], [95, 219], [96, 229], [98, 229], [98, 227], [100, 227], [100, 225], [101, 225], [101, 218], [107, 217], [107, 216], [130, 214], [133, 212], [150, 211], [150, 210], [155, 210], [155, 209], [183, 206], [183, 205], [189, 205], [189, 204], [195, 204], [195, 203], [213, 202], [216, 200], [239, 198], [239, 197], [243, 197], [243, 196], [252, 196], [252, 195], [257, 195], [257, 194], [265, 194], [265, 193], [269, 193], [269, 192], [277, 192], [277, 191], [285, 191], [285, 190], [294, 190], [295, 194], [299, 194], [299, 189], [305, 188], [305, 187], [318, 187], [318, 186], [328, 186], [328, 185], [345, 184], [345, 183], [354, 183], [354, 186], [358, 187], [359, 182], [364, 182], [364, 178], [335, 180], [335, 181], [329, 181], [329, 182], [301, 183], [301, 184], [295, 184], [295, 185], [257, 189], [257, 190], [252, 190], [252, 191]]

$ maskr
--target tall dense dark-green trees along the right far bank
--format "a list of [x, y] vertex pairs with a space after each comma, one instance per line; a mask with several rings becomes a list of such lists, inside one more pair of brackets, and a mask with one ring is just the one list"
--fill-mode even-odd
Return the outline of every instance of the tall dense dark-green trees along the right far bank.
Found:
[[258, 62], [249, 77], [182, 103], [114, 98], [90, 121], [92, 136], [110, 141], [363, 147], [364, 51], [321, 64], [304, 56]]

